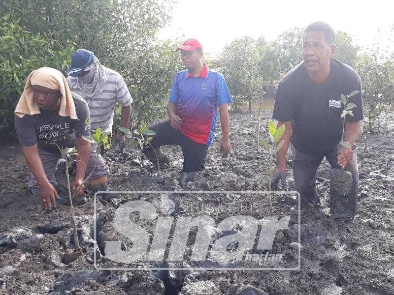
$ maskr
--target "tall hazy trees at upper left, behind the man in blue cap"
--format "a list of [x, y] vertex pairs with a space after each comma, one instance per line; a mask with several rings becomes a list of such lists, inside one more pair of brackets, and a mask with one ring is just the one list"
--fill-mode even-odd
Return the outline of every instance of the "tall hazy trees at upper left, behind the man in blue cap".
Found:
[[93, 51], [103, 65], [125, 79], [134, 119], [141, 123], [165, 116], [171, 83], [181, 68], [175, 53], [180, 40], [175, 44], [156, 37], [171, 19], [173, 4], [173, 0], [13, 0], [0, 1], [0, 15], [15, 15], [24, 28], [45, 33], [64, 46], [70, 40], [76, 48]]

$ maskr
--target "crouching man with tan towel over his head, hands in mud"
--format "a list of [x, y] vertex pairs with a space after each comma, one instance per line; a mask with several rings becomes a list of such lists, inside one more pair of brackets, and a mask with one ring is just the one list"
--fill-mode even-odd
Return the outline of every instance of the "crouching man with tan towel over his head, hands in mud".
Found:
[[[85, 100], [68, 88], [63, 74], [42, 67], [30, 73], [15, 109], [15, 129], [31, 172], [29, 187], [39, 195], [45, 209], [55, 205], [55, 169], [60, 148], [77, 149], [76, 175], [72, 190], [83, 192], [85, 174], [90, 174], [93, 192], [107, 189], [108, 168], [95, 147], [82, 136], [90, 135], [89, 108]], [[55, 144], [56, 143], [56, 144]], [[92, 148], [92, 150], [91, 150]]]

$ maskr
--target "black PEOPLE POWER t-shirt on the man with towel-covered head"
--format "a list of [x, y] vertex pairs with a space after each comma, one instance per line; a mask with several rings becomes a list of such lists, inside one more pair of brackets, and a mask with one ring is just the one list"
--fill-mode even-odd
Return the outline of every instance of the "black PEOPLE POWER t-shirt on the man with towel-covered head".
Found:
[[[71, 92], [72, 93], [72, 92]], [[58, 111], [40, 110], [40, 114], [25, 115], [19, 118], [15, 115], [15, 129], [19, 142], [24, 147], [35, 144], [38, 148], [58, 154], [60, 148], [70, 148], [75, 145], [75, 138], [90, 135], [90, 115], [86, 101], [76, 93], [72, 93], [77, 120], [62, 117]]]

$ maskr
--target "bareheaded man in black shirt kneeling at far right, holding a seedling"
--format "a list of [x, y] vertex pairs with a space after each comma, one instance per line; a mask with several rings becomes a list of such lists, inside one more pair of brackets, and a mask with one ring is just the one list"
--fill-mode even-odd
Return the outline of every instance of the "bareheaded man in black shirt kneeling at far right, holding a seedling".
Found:
[[[277, 153], [277, 167], [271, 183], [286, 177], [286, 154], [289, 142], [293, 144], [293, 170], [296, 191], [301, 206], [319, 203], [316, 193], [318, 167], [324, 157], [332, 168], [344, 168], [352, 173], [351, 206], [356, 211], [358, 170], [352, 148], [339, 148], [342, 140], [343, 104], [341, 94], [348, 95], [356, 104], [354, 116], [346, 116], [344, 142], [352, 147], [359, 135], [362, 116], [361, 79], [350, 66], [333, 59], [335, 33], [326, 23], [316, 22], [303, 33], [303, 61], [280, 81], [276, 94], [273, 118], [278, 126], [285, 124], [283, 148]], [[354, 148], [353, 148], [354, 149]]]

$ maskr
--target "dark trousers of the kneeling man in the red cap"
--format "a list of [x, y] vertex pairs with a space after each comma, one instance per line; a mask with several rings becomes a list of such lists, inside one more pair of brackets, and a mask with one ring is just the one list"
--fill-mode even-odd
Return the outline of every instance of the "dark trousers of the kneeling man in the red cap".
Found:
[[[165, 119], [148, 126], [155, 131], [151, 144], [153, 148], [168, 145], [178, 145], [183, 153], [183, 172], [194, 172], [204, 170], [207, 145], [199, 144], [186, 137], [181, 131], [172, 128], [169, 119]], [[144, 148], [145, 154], [151, 154], [150, 147]]]

